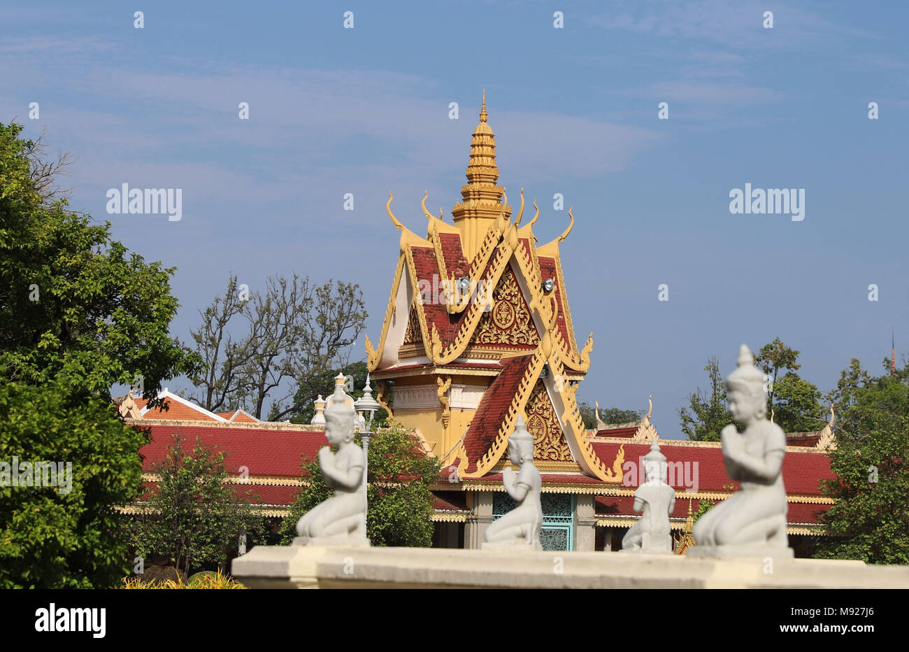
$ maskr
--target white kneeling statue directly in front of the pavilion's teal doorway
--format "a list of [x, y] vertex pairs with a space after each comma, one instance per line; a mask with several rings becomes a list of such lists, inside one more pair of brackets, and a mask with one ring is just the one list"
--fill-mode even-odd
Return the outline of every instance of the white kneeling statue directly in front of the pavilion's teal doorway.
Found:
[[527, 432], [524, 417], [520, 415], [514, 423], [514, 432], [508, 437], [508, 456], [512, 464], [518, 466], [518, 472], [515, 475], [511, 467], [504, 468], [502, 481], [517, 507], [486, 528], [483, 547], [542, 550], [542, 478], [534, 466], [534, 436]]

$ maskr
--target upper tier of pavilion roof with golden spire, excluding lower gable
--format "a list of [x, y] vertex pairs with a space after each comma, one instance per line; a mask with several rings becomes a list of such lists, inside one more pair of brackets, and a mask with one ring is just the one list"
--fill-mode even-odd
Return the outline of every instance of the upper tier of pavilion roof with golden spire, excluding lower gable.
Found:
[[[436, 365], [453, 363], [464, 356], [468, 346], [482, 346], [475, 337], [477, 328], [482, 330], [481, 325], [490, 319], [501, 325], [511, 316], [507, 306], [494, 313], [495, 304], [501, 302], [491, 300], [491, 295], [500, 282], [520, 286], [520, 300], [531, 318], [519, 326], [528, 324], [538, 337], [554, 319], [554, 346], [568, 372], [583, 376], [589, 367], [593, 341], [588, 339], [584, 351], [578, 350], [559, 255], [559, 244], [574, 226], [572, 208], [568, 228], [543, 246], [536, 244], [533, 232], [539, 209], [533, 220], [521, 226], [523, 190], [518, 215], [511, 219], [504, 188], [495, 185], [495, 141], [487, 119], [484, 102], [471, 142], [467, 184], [461, 189], [464, 201], [452, 208], [454, 224], [442, 219], [441, 209], [438, 217], [433, 216], [426, 209], [425, 196], [426, 236], [417, 236], [392, 213], [394, 197], [389, 193], [386, 210], [401, 231], [400, 255], [376, 346], [366, 337], [370, 372], [381, 374], [399, 366], [405, 343], [416, 346], [411, 355], [422, 353]], [[545, 289], [544, 281], [550, 281]], [[504, 326], [505, 330], [510, 327]], [[515, 336], [514, 341], [498, 344], [527, 348], [533, 343]]]

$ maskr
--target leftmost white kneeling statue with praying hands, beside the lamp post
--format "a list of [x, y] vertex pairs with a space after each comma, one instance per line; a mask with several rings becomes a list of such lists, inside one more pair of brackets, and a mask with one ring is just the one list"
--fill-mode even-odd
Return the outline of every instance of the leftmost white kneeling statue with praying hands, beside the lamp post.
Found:
[[296, 524], [296, 546], [369, 546], [366, 538], [365, 456], [354, 442], [354, 406], [344, 386], [335, 386], [334, 401], [325, 408], [325, 436], [337, 446], [319, 449], [319, 468], [332, 497], [306, 512]]

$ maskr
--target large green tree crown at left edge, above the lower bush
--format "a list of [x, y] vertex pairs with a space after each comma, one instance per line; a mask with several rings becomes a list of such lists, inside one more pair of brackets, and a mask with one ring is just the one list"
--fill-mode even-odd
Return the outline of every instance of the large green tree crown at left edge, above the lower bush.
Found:
[[129, 255], [110, 223], [67, 209], [54, 166], [21, 125], [0, 124], [0, 376], [109, 398], [143, 376], [146, 397], [199, 360], [168, 334], [175, 269]]

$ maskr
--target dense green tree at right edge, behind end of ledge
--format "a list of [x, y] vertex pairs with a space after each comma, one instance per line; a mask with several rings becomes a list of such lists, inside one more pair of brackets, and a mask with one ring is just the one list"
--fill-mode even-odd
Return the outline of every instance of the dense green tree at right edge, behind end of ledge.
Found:
[[823, 488], [836, 503], [822, 517], [828, 536], [815, 557], [909, 564], [907, 381], [909, 367], [872, 377], [853, 358], [828, 395], [839, 407], [828, 454], [836, 476]]

